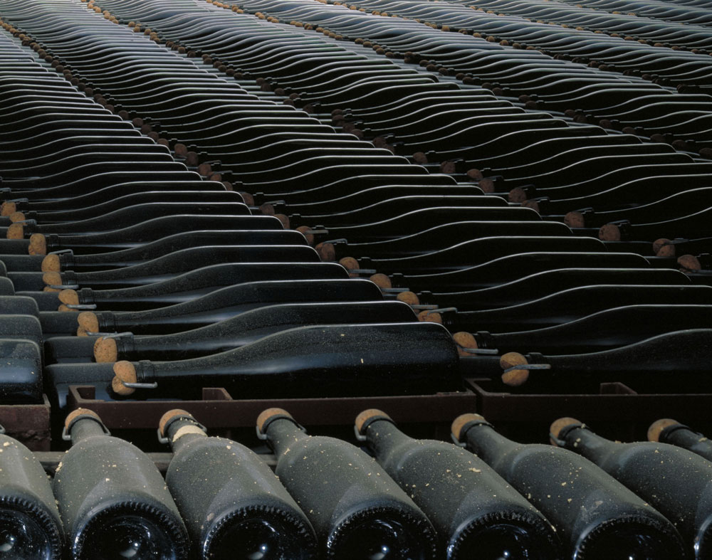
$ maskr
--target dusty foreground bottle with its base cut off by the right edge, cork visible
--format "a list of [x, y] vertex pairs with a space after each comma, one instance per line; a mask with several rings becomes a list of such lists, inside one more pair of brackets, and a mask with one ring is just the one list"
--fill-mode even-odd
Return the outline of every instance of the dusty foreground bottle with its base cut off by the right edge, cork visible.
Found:
[[688, 554], [712, 546], [712, 463], [665, 443], [615, 443], [574, 418], [551, 425], [553, 442], [580, 453], [659, 509], [684, 538]]

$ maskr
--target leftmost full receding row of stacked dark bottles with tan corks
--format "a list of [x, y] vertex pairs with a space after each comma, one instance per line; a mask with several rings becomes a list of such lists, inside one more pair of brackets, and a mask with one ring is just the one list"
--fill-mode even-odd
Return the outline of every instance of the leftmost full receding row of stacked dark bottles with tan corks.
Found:
[[[108, 361], [115, 339], [93, 347], [100, 328], [117, 333], [121, 319], [121, 332], [131, 325], [137, 334], [207, 327], [178, 342], [166, 337], [153, 347], [175, 360], [210, 357], [167, 362], [162, 373], [145, 362], [88, 369], [48, 366], [44, 389], [56, 403], [63, 406], [69, 383], [96, 384], [100, 395], [132, 393], [127, 375], [140, 377], [133, 380], [142, 389], [145, 376], [151, 376], [162, 379], [162, 395], [190, 396], [203, 385], [182, 381], [196, 371], [210, 372], [206, 383], [239, 385], [241, 392], [254, 391], [255, 396], [280, 375], [284, 395], [431, 392], [458, 386], [456, 347], [445, 329], [419, 324], [406, 304], [384, 301], [372, 282], [349, 279], [335, 263], [320, 263], [301, 233], [284, 231], [272, 216], [251, 215], [239, 194], [217, 181], [201, 181], [199, 174], [174, 162], [166, 147], [33, 62], [29, 49], [6, 42], [23, 58], [9, 91], [29, 82], [35, 99], [27, 107], [23, 88], [4, 97], [7, 129], [28, 131], [21, 141], [6, 133], [12, 138], [6, 143], [15, 149], [6, 152], [4, 169], [22, 162], [34, 174], [4, 181], [9, 189], [5, 209], [14, 210], [5, 218], [11, 238], [2, 241], [7, 269], [0, 322], [4, 403], [41, 401], [43, 346], [50, 364], [77, 361], [73, 356], [83, 352], [85, 360], [96, 353]], [[48, 124], [33, 134], [32, 123], [43, 120]], [[152, 152], [158, 163], [151, 161]], [[37, 160], [50, 164], [28, 164]], [[92, 169], [98, 172], [91, 174]], [[31, 214], [34, 208], [67, 210]], [[76, 282], [91, 287], [80, 289]], [[116, 315], [108, 314], [112, 324], [100, 312], [85, 311], [98, 307], [115, 310]], [[80, 334], [92, 336], [58, 337], [75, 335], [78, 327]], [[314, 351], [325, 344], [336, 351]], [[229, 355], [218, 354], [228, 350]], [[364, 364], [371, 373], [382, 371], [390, 386], [365, 383], [370, 373], [362, 371]], [[305, 376], [322, 382], [310, 386]]]

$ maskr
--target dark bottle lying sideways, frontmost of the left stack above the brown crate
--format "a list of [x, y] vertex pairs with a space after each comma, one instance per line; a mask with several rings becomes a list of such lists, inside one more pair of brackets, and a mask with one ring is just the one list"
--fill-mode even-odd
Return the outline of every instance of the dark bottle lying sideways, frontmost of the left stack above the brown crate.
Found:
[[[325, 350], [327, 349], [327, 350]], [[459, 388], [457, 351], [439, 324], [337, 324], [298, 327], [246, 346], [179, 361], [51, 364], [59, 385], [110, 384], [112, 394], [196, 398], [204, 386], [257, 397], [428, 394]], [[136, 389], [132, 384], [148, 384]], [[151, 387], [151, 384], [154, 384]]]

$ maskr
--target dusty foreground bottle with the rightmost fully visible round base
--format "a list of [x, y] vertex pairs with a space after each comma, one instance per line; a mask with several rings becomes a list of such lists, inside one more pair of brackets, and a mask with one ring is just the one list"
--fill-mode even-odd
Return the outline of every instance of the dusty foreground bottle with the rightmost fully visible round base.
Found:
[[580, 455], [509, 440], [479, 414], [458, 416], [452, 434], [547, 516], [568, 558], [686, 557], [668, 519]]

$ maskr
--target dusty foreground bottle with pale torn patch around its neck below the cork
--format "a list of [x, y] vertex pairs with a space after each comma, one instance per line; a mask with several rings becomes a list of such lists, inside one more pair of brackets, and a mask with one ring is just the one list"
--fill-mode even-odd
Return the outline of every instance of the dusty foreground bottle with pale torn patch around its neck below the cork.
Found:
[[188, 412], [172, 410], [159, 435], [173, 458], [166, 484], [200, 560], [310, 560], [314, 529], [267, 463], [244, 445], [209, 438]]

